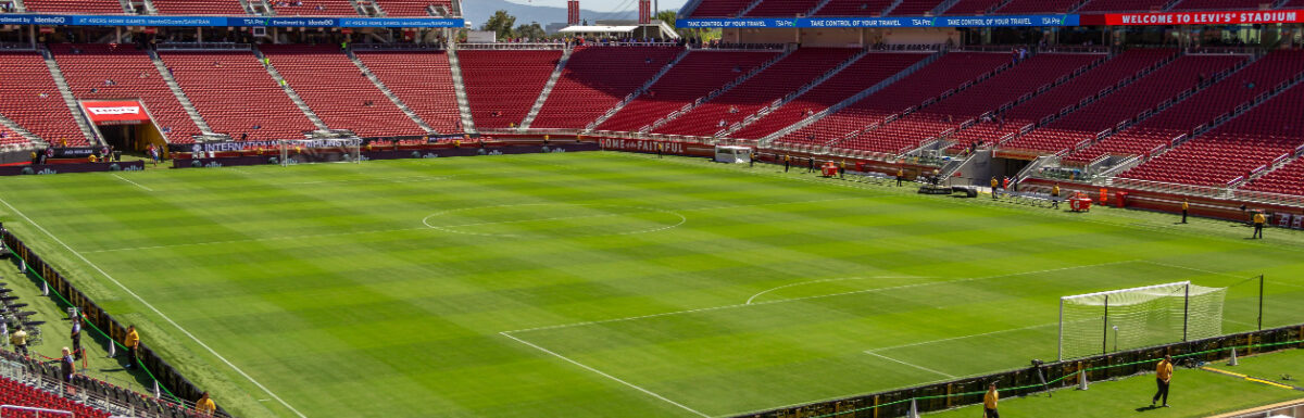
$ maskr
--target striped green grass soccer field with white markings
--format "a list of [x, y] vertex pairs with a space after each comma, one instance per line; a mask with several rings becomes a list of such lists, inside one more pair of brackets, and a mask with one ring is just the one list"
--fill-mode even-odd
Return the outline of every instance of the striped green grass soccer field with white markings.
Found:
[[721, 417], [1054, 359], [1059, 297], [1231, 286], [1304, 236], [583, 152], [0, 178], [0, 211], [241, 417]]

